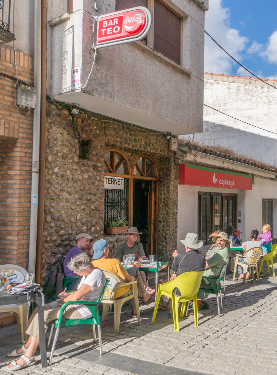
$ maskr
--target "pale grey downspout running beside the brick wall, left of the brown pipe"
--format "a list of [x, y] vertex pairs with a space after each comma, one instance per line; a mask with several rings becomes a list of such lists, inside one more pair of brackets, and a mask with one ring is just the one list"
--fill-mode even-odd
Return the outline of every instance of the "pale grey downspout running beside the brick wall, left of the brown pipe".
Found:
[[30, 212], [29, 272], [36, 268], [36, 228], [38, 220], [38, 180], [39, 180], [39, 132], [41, 116], [41, 0], [35, 0], [35, 88], [36, 108], [33, 118], [33, 155]]

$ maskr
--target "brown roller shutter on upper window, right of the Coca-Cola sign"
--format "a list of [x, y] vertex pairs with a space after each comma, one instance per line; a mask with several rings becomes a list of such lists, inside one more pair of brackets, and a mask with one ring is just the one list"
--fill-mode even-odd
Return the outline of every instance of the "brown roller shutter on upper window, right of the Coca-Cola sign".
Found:
[[181, 18], [154, 2], [154, 49], [180, 64]]

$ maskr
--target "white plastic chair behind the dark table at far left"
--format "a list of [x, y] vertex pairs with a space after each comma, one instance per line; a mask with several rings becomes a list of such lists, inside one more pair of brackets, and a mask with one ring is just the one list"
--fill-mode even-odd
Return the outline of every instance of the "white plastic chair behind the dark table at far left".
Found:
[[[23, 283], [26, 280], [26, 273], [28, 273], [23, 267], [17, 266], [15, 264], [2, 264], [0, 266], [0, 272], [14, 271], [13, 274], [17, 275], [17, 283]], [[9, 277], [9, 276], [8, 276]], [[0, 312], [14, 312], [17, 314], [17, 333], [21, 333], [22, 343], [27, 341], [27, 303], [17, 303], [15, 305], [2, 305], [0, 306]]]

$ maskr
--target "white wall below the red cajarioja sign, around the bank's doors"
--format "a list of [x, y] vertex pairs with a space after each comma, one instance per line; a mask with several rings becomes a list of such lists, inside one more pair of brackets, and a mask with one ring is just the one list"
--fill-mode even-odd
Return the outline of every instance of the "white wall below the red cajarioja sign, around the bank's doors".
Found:
[[[273, 199], [273, 237], [277, 237], [277, 180], [255, 177], [252, 190], [219, 189], [205, 186], [179, 185], [178, 195], [178, 251], [184, 252], [180, 240], [187, 233], [197, 233], [198, 192], [220, 192], [238, 194], [238, 210], [241, 210], [241, 223], [235, 228], [242, 231], [241, 238], [249, 239], [253, 229], [262, 233], [262, 199]], [[234, 225], [235, 226], [235, 225]]]

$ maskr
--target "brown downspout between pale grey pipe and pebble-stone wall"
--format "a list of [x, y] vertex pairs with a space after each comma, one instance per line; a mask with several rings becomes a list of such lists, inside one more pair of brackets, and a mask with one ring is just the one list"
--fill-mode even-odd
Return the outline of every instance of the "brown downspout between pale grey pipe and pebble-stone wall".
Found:
[[39, 141], [39, 189], [38, 189], [38, 231], [36, 282], [41, 283], [43, 217], [44, 217], [44, 179], [45, 179], [45, 142], [46, 142], [46, 21], [47, 0], [41, 0], [41, 131]]

